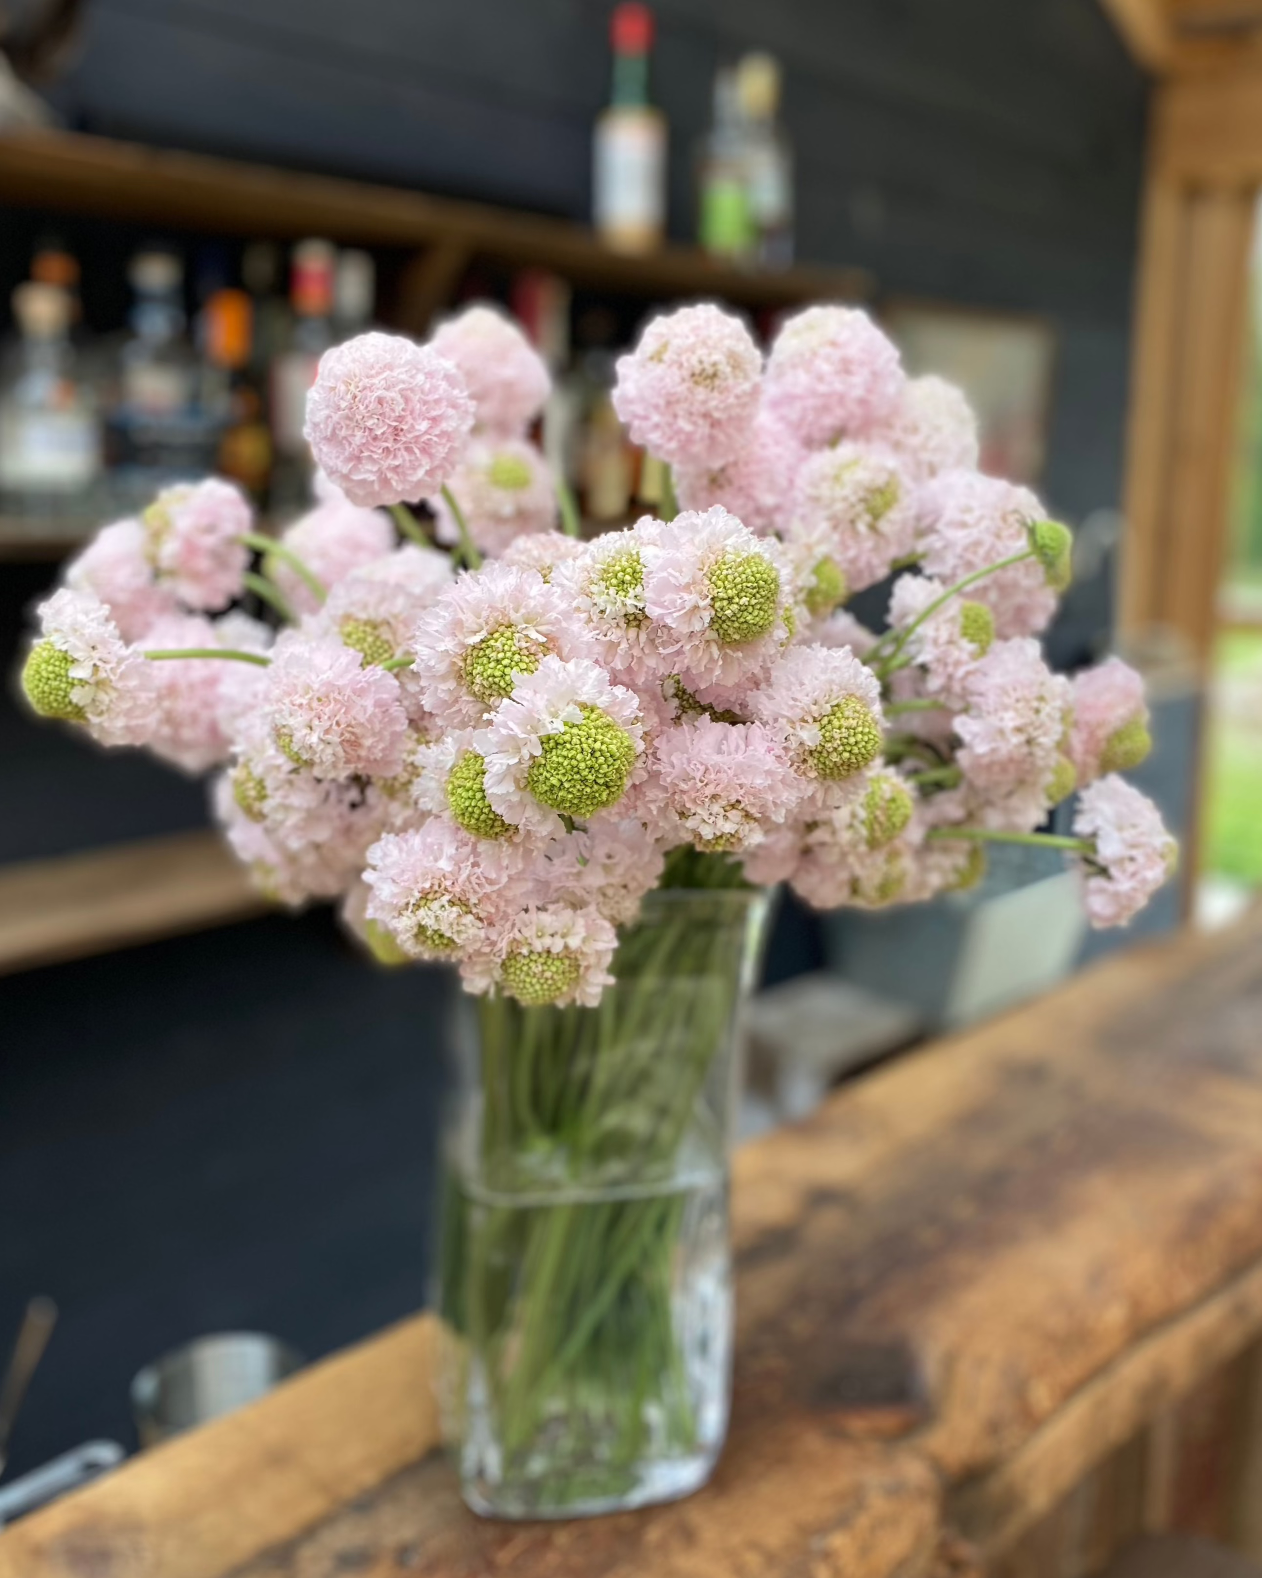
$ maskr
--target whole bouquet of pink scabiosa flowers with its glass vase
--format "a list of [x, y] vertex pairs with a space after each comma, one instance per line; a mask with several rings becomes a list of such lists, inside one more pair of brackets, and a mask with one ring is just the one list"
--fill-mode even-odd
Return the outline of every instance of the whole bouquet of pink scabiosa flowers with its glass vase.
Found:
[[[718, 1455], [767, 888], [905, 904], [1044, 843], [1122, 925], [1174, 862], [1117, 776], [1137, 675], [1040, 652], [1068, 530], [863, 312], [809, 308], [765, 358], [715, 306], [655, 319], [614, 402], [669, 507], [592, 541], [527, 437], [546, 396], [486, 308], [330, 350], [314, 510], [274, 538], [226, 483], [167, 489], [69, 565], [24, 671], [46, 716], [221, 768], [274, 899], [457, 966], [443, 1408], [470, 1504], [519, 1516], [681, 1494]], [[887, 581], [868, 630], [847, 600]]]

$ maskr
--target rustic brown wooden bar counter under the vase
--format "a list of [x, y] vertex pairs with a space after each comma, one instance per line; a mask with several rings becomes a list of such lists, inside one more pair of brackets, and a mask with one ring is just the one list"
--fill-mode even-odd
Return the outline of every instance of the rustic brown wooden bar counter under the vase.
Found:
[[[1159, 1529], [1161, 1422], [1262, 1333], [1262, 915], [860, 1079], [740, 1154], [735, 1220], [732, 1431], [689, 1501], [473, 1518], [421, 1316], [14, 1524], [0, 1578], [1005, 1572], [1128, 1452], [1129, 1526]], [[1093, 1520], [1104, 1561], [1126, 1531]]]

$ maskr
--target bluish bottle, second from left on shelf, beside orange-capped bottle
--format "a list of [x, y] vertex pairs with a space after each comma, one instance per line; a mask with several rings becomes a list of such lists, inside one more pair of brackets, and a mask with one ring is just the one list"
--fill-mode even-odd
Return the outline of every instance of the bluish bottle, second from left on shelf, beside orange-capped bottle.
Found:
[[215, 466], [221, 418], [202, 404], [200, 363], [188, 338], [185, 265], [170, 251], [137, 252], [129, 333], [118, 353], [107, 420], [112, 508], [142, 510], [170, 483]]

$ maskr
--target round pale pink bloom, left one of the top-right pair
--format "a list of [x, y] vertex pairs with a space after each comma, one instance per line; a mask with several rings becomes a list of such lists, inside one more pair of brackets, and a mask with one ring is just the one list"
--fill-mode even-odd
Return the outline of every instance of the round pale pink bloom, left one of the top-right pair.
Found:
[[746, 442], [762, 357], [738, 317], [683, 306], [655, 317], [618, 358], [614, 409], [636, 443], [669, 466], [721, 466]]

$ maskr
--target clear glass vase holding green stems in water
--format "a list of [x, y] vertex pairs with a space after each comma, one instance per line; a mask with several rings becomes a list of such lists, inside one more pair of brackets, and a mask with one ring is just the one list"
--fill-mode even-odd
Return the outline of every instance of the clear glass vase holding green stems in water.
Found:
[[727, 1428], [727, 1155], [767, 895], [666, 888], [596, 1008], [465, 999], [443, 1144], [440, 1400], [502, 1518], [669, 1501]]

